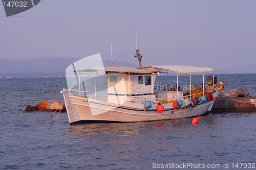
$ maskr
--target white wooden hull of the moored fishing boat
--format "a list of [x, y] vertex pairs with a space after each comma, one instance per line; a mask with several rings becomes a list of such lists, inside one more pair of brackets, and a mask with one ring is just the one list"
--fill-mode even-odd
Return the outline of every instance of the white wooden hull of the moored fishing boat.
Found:
[[[67, 89], [61, 93], [63, 93], [70, 124], [78, 122], [144, 122], [193, 117], [210, 111], [214, 104], [214, 101], [205, 101], [194, 108], [186, 107], [174, 110], [169, 107], [159, 113], [156, 109], [145, 110], [140, 107], [119, 106], [99, 100], [71, 96]], [[218, 92], [213, 94], [214, 99], [217, 94]]]

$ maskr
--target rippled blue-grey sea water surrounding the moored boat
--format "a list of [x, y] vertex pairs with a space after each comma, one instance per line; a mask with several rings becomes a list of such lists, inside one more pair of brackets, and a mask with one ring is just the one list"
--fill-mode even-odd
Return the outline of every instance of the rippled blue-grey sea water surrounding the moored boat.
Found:
[[[256, 96], [256, 74], [217, 76], [226, 92], [247, 88]], [[72, 126], [67, 113], [60, 113], [49, 127], [52, 120], [41, 123], [52, 112], [23, 110], [43, 100], [62, 101], [66, 79], [11, 79], [0, 85], [0, 169], [160, 169], [156, 166], [172, 163], [195, 168], [165, 169], [199, 169], [199, 164], [248, 169], [256, 163], [256, 112], [208, 112], [198, 125], [183, 118]]]

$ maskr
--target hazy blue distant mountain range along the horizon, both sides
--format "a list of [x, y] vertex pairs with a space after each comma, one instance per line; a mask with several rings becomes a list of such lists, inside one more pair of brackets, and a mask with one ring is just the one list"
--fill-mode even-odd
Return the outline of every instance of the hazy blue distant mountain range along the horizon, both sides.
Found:
[[[19, 75], [29, 77], [27, 73], [40, 73], [39, 77], [51, 77], [58, 75], [57, 77], [65, 76], [66, 68], [79, 60], [78, 58], [61, 58], [61, 57], [39, 57], [32, 59], [6, 59], [0, 58], [0, 77], [3, 74], [12, 76], [15, 75], [19, 78]], [[131, 66], [129, 62], [113, 61], [114, 66]], [[103, 60], [104, 66], [111, 66], [111, 60]], [[134, 65], [133, 67], [138, 67]], [[242, 74], [242, 73], [256, 73], [256, 64], [240, 64], [227, 69], [222, 69], [223, 74]], [[47, 74], [45, 74], [47, 73]], [[55, 73], [55, 74], [53, 74]], [[37, 74], [38, 75], [38, 74]], [[33, 77], [36, 77], [34, 75]]]

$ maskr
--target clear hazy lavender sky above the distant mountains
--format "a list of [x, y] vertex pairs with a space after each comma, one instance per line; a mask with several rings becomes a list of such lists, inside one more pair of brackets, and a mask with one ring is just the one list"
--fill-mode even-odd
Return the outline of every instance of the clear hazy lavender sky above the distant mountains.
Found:
[[223, 69], [256, 64], [255, 30], [254, 0], [42, 0], [10, 17], [0, 5], [0, 57], [111, 60], [112, 42], [113, 59], [130, 62], [137, 33], [144, 66]]

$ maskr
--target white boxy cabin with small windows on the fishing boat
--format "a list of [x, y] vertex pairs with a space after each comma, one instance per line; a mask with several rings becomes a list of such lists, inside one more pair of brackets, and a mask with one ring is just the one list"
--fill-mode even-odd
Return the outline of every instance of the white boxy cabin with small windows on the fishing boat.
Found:
[[108, 102], [156, 103], [154, 84], [156, 75], [152, 71], [132, 67], [105, 67], [108, 75]]

